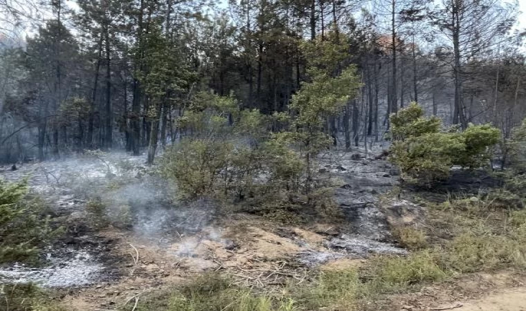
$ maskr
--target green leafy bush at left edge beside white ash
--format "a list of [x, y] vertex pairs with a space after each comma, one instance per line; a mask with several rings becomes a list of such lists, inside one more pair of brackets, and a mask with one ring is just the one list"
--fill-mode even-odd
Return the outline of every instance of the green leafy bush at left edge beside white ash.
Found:
[[61, 231], [51, 229], [42, 203], [26, 195], [26, 180], [0, 180], [0, 263], [37, 261], [40, 248]]

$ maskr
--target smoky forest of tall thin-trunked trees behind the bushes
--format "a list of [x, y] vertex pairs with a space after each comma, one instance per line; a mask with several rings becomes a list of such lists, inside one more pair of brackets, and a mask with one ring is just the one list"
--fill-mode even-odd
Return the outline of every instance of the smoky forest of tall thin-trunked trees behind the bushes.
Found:
[[158, 147], [187, 134], [181, 118], [201, 92], [232, 96], [239, 110], [291, 113], [293, 95], [311, 79], [309, 66], [321, 60], [316, 44], [342, 53], [332, 75], [356, 68], [356, 95], [325, 117], [325, 132], [346, 149], [385, 139], [388, 115], [410, 102], [462, 128], [491, 122], [503, 138], [525, 116], [518, 3], [0, 5], [5, 163], [85, 149], [149, 150], [153, 160]]

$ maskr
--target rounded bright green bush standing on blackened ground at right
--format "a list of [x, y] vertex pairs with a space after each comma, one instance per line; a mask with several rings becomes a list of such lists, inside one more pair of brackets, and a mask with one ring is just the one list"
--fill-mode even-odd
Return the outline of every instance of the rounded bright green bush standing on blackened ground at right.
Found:
[[489, 147], [500, 137], [500, 131], [489, 124], [470, 124], [460, 133], [441, 132], [442, 122], [424, 117], [416, 103], [391, 115], [390, 121], [394, 138], [390, 160], [406, 180], [427, 186], [448, 178], [453, 165], [476, 168], [489, 163]]

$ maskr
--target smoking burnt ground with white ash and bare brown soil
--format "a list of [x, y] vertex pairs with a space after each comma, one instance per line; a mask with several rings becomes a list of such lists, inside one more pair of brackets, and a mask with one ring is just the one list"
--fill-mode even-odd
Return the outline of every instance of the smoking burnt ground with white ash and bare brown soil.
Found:
[[[403, 200], [410, 189], [403, 189], [402, 199], [386, 202], [385, 194], [398, 186], [397, 169], [373, 155], [323, 157], [320, 172], [336, 187], [343, 219], [302, 225], [229, 213], [212, 200], [179, 202], [173, 186], [150, 175], [143, 162], [116, 153], [23, 164], [17, 171], [0, 168], [7, 180], [29, 176], [31, 191], [46, 199], [53, 219], [66, 229], [42, 267], [10, 265], [1, 267], [0, 275], [55, 288], [72, 310], [114, 309], [207, 271], [228, 272], [239, 284], [268, 290], [289, 280], [302, 283], [313, 268], [359, 265], [373, 254], [406, 254], [390, 236], [390, 225], [423, 212]], [[455, 174], [457, 183], [429, 193], [442, 196], [449, 189], [493, 182]], [[114, 225], [93, 229], [86, 211], [93, 198], [105, 203]]]

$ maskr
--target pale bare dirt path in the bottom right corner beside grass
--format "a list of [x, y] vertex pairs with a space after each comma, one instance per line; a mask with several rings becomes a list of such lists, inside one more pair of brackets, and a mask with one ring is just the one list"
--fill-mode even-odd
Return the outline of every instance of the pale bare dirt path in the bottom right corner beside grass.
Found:
[[490, 294], [482, 299], [467, 301], [457, 311], [526, 311], [526, 287]]

